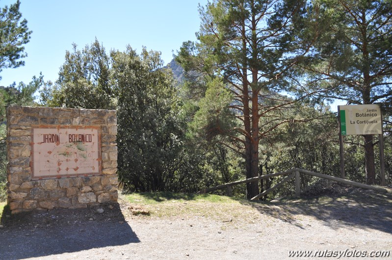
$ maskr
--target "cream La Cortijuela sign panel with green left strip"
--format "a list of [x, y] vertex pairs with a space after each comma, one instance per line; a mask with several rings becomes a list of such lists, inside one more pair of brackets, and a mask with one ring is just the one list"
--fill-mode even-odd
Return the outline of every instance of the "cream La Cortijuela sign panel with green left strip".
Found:
[[381, 110], [376, 104], [340, 105], [341, 134], [381, 134]]

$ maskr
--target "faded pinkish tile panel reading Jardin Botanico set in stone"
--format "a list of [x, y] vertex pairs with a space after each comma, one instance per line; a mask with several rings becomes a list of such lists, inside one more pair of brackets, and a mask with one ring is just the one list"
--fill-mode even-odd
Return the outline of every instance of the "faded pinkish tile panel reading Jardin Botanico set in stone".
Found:
[[32, 179], [101, 174], [97, 127], [33, 127]]

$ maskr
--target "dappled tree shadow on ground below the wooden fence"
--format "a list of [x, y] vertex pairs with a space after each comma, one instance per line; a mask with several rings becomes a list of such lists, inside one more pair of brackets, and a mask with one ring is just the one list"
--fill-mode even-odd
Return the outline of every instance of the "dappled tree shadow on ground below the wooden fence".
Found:
[[361, 188], [348, 188], [343, 194], [321, 195], [303, 199], [281, 199], [255, 203], [266, 214], [304, 228], [301, 215], [312, 216], [332, 229], [353, 226], [392, 234], [392, 193], [375, 193]]

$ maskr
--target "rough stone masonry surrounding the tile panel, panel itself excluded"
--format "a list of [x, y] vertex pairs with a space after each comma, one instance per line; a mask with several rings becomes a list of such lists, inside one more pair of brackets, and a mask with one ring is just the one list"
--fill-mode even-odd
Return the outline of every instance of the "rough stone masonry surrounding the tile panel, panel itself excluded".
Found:
[[[96, 127], [100, 131], [100, 174], [32, 178], [34, 127]], [[7, 187], [12, 213], [32, 209], [84, 208], [117, 202], [115, 110], [11, 106], [7, 109]]]

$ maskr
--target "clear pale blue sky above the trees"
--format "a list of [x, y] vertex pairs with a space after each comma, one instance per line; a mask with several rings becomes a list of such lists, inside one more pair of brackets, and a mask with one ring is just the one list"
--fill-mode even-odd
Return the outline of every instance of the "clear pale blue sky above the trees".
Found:
[[[0, 7], [15, 2], [0, 0]], [[25, 45], [28, 56], [25, 66], [0, 73], [0, 85], [28, 83], [40, 72], [55, 81], [72, 43], [80, 50], [95, 38], [106, 52], [125, 51], [128, 44], [139, 53], [143, 46], [160, 51], [166, 64], [184, 41], [196, 40], [199, 3], [207, 0], [21, 0], [20, 11], [33, 31]]]

